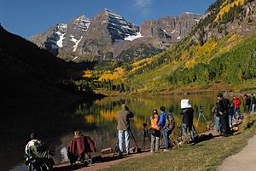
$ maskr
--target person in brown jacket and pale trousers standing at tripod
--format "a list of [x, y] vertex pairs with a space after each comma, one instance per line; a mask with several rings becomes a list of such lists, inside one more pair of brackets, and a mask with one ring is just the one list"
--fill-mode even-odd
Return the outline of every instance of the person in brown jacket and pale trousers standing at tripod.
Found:
[[125, 137], [125, 150], [130, 153], [130, 118], [134, 117], [133, 113], [129, 110], [127, 105], [121, 105], [121, 110], [117, 112], [117, 130], [119, 132], [119, 157], [123, 156], [123, 140]]

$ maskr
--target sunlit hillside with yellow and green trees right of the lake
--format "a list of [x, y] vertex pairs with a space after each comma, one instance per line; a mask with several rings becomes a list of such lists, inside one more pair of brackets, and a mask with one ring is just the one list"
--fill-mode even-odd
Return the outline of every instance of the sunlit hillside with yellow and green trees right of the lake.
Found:
[[138, 61], [125, 74], [131, 83], [121, 80], [136, 92], [218, 85], [246, 91], [255, 89], [255, 57], [256, 1], [217, 0], [181, 43]]

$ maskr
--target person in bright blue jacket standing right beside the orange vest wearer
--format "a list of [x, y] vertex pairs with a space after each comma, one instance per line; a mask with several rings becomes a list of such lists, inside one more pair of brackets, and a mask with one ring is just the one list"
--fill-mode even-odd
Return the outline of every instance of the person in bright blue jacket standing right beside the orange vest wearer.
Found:
[[166, 149], [164, 150], [165, 152], [165, 151], [169, 151], [169, 131], [166, 128], [166, 107], [161, 106], [160, 111], [161, 111], [160, 120], [157, 123], [157, 126], [162, 128], [162, 134], [165, 139], [165, 146], [166, 146]]

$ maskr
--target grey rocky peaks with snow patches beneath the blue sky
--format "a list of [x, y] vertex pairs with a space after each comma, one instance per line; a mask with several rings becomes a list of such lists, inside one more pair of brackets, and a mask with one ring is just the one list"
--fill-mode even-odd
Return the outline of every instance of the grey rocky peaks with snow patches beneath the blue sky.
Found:
[[170, 43], [181, 41], [200, 19], [200, 14], [185, 13], [145, 21], [139, 27], [104, 9], [91, 20], [81, 15], [29, 40], [67, 61], [132, 61], [157, 54]]

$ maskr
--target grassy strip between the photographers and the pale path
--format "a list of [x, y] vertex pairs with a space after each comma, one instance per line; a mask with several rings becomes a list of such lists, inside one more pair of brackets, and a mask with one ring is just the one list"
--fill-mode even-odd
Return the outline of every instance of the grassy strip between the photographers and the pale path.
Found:
[[215, 170], [226, 157], [241, 151], [247, 140], [256, 134], [255, 121], [256, 115], [247, 117], [240, 131], [231, 137], [214, 138], [193, 146], [130, 159], [104, 170]]

